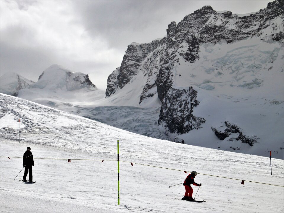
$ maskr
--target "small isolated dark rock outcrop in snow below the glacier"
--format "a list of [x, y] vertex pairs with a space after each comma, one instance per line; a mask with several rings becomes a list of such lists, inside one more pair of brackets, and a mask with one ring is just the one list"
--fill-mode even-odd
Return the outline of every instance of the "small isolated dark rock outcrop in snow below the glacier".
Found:
[[250, 146], [253, 146], [254, 143], [257, 143], [257, 140], [259, 138], [257, 138], [255, 135], [248, 137], [246, 135], [244, 135], [243, 130], [238, 127], [235, 124], [232, 124], [228, 121], [225, 121], [225, 130], [222, 131], [220, 130], [220, 128], [224, 128], [224, 126], [217, 128], [211, 127], [211, 129], [214, 131], [215, 135], [220, 139], [220, 140], [224, 140], [225, 138], [228, 138], [230, 135], [238, 133], [238, 137], [234, 138], [231, 137], [228, 139], [228, 141], [241, 141], [242, 143], [247, 143]]

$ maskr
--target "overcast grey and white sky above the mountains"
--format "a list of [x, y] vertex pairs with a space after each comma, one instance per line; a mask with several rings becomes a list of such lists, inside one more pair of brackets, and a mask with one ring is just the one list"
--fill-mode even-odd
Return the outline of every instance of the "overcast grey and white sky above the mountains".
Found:
[[33, 81], [52, 64], [83, 72], [100, 89], [132, 42], [167, 35], [170, 22], [210, 5], [246, 14], [271, 1], [4, 1], [0, 0], [0, 75]]

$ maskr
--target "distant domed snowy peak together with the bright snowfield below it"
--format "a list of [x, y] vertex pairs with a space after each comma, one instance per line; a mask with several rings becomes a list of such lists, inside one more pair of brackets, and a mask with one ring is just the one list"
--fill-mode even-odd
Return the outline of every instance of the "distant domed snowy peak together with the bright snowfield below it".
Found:
[[64, 110], [93, 103], [104, 97], [104, 91], [96, 88], [87, 74], [53, 64], [36, 83], [21, 89], [18, 97]]

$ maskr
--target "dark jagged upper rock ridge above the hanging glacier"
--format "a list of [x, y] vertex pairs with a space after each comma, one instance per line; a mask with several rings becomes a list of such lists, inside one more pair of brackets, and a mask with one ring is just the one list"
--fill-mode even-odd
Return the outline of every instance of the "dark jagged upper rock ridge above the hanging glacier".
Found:
[[[140, 103], [155, 93], [163, 101], [172, 86], [173, 67], [181, 59], [195, 63], [199, 59], [201, 43], [227, 43], [249, 37], [259, 37], [267, 42], [283, 42], [283, 0], [273, 1], [266, 9], [239, 17], [230, 11], [217, 12], [211, 6], [196, 10], [178, 24], [168, 25], [167, 37], [151, 43], [132, 43], [128, 46], [121, 67], [112, 73], [108, 81], [106, 96], [123, 88], [138, 72], [148, 75], [141, 94]], [[151, 62], [152, 65], [149, 63]], [[117, 76], [117, 80], [115, 80]], [[116, 84], [114, 83], [116, 82]]]

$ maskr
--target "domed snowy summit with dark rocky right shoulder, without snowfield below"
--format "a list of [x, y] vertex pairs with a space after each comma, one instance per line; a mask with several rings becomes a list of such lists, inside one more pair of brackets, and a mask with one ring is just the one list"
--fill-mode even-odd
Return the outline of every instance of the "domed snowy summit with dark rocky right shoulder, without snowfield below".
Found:
[[42, 72], [38, 81], [30, 88], [49, 89], [50, 91], [66, 90], [74, 91], [81, 88], [96, 89], [87, 74], [71, 72], [57, 64], [51, 65]]

